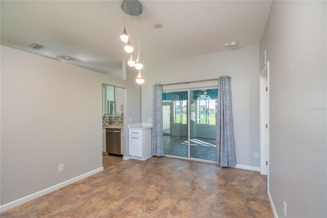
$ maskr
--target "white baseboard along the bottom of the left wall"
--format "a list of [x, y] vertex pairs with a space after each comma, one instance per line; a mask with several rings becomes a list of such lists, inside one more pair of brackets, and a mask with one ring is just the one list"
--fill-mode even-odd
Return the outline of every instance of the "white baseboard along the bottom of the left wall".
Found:
[[16, 207], [18, 205], [24, 204], [24, 203], [26, 203], [28, 201], [31, 201], [31, 200], [36, 199], [38, 197], [41, 197], [44, 194], [48, 194], [48, 193], [50, 193], [52, 191], [55, 191], [55, 190], [60, 189], [60, 188], [62, 188], [64, 186], [67, 186], [69, 184], [72, 184], [74, 182], [77, 182], [79, 180], [82, 180], [82, 179], [84, 179], [86, 177], [92, 176], [92, 175], [94, 175], [94, 174], [96, 174], [98, 172], [101, 172], [101, 171], [103, 171], [103, 167], [100, 167], [98, 169], [95, 169], [95, 170], [86, 172], [83, 175], [80, 175], [80, 176], [75, 177], [73, 179], [64, 181], [64, 182], [59, 183], [57, 185], [51, 186], [49, 188], [45, 188], [43, 190], [40, 190], [40, 191], [35, 192], [33, 194], [30, 194], [30, 195], [27, 195], [26, 197], [23, 197], [23, 198], [20, 198], [20, 199], [15, 200], [15, 201], [9, 202], [7, 204], [4, 204], [4, 205], [0, 206], [0, 211], [1, 212], [4, 212], [4, 211], [9, 210], [9, 209], [11, 209], [13, 207]]

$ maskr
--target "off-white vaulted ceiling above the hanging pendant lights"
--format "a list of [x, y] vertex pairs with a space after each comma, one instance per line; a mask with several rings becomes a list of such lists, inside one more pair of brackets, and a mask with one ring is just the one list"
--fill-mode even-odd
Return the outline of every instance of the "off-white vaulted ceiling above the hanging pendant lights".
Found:
[[[1, 1], [1, 44], [100, 73], [120, 77], [129, 55], [119, 36], [123, 1]], [[143, 13], [132, 16], [132, 43], [141, 59], [166, 62], [260, 43], [271, 1], [140, 1]], [[155, 29], [161, 24], [161, 29]], [[126, 30], [130, 34], [130, 16]], [[29, 46], [44, 46], [35, 50]], [[133, 53], [136, 56], [136, 52]], [[136, 57], [135, 57], [136, 58]]]

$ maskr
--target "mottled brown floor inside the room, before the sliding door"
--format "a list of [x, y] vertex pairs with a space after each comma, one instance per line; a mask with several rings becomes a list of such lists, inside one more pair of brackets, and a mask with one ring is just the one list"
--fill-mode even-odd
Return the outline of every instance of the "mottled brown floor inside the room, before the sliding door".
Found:
[[0, 216], [273, 217], [267, 179], [259, 172], [169, 157], [124, 161], [110, 155], [103, 155], [103, 167]]

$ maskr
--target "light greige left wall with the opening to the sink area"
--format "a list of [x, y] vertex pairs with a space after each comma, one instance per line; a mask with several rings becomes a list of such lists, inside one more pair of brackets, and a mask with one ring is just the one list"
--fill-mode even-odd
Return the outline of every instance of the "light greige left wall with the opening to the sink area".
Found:
[[[102, 83], [139, 99], [134, 79], [1, 46], [2, 205], [102, 167]], [[139, 102], [126, 106], [139, 120]]]

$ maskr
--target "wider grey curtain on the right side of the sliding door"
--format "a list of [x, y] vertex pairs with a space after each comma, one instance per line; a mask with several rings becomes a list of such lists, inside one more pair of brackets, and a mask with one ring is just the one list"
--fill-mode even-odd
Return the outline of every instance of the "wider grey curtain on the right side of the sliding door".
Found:
[[219, 77], [217, 101], [216, 164], [222, 167], [235, 166], [229, 76]]

